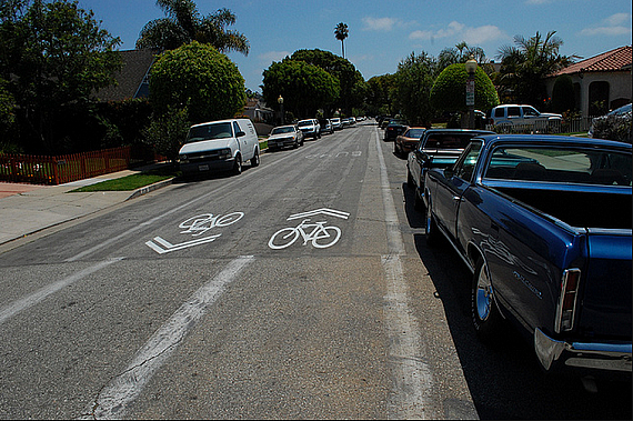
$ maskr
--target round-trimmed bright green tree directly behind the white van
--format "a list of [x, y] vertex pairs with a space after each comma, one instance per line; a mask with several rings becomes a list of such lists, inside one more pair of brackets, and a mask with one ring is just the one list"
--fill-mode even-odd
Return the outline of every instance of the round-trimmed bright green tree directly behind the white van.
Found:
[[193, 41], [158, 57], [150, 102], [158, 116], [169, 107], [187, 108], [193, 123], [231, 118], [245, 104], [244, 79], [227, 56]]

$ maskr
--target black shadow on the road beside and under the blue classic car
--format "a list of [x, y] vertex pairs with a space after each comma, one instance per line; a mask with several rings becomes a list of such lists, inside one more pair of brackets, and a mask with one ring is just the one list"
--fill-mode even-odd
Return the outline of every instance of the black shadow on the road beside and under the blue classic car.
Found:
[[[413, 190], [403, 184], [406, 219], [422, 228]], [[481, 419], [631, 419], [631, 383], [600, 382], [589, 393], [580, 379], [544, 373], [529, 339], [508, 327], [495, 347], [484, 345], [471, 325], [471, 272], [448, 243], [426, 244], [414, 233], [415, 249], [442, 300], [449, 329]]]

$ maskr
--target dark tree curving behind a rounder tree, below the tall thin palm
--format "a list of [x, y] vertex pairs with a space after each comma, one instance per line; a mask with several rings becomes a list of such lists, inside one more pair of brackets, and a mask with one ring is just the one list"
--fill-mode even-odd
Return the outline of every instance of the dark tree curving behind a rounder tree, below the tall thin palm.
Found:
[[[365, 81], [361, 72], [349, 60], [319, 49], [297, 50], [290, 59], [318, 66], [339, 81], [340, 94], [329, 104], [328, 114], [342, 109], [346, 116], [350, 116], [352, 108], [363, 107], [366, 94]], [[325, 106], [328, 104], [322, 104], [323, 108]]]

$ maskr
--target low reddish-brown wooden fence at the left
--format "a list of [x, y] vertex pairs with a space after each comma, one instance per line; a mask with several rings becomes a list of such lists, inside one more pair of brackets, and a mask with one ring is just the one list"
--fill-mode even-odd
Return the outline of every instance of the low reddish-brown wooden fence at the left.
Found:
[[33, 184], [62, 184], [130, 167], [131, 147], [59, 157], [0, 154], [0, 180]]

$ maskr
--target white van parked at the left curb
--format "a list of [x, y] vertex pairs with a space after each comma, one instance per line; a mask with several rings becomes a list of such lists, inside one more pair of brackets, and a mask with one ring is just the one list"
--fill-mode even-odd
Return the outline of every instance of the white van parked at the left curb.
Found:
[[249, 119], [195, 124], [189, 129], [178, 158], [183, 176], [223, 170], [239, 174], [244, 161], [251, 161], [251, 167], [260, 164], [258, 133]]

